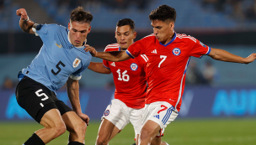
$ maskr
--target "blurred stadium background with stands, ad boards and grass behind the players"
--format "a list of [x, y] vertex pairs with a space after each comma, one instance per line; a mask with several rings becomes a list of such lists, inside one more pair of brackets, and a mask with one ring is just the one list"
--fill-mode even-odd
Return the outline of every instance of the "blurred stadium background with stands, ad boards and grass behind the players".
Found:
[[[152, 34], [148, 14], [162, 4], [176, 9], [177, 33], [243, 57], [256, 52], [256, 0], [0, 0], [0, 144], [22, 144], [40, 129], [14, 95], [19, 70], [30, 64], [42, 45], [39, 37], [19, 28], [17, 9], [25, 8], [35, 23], [67, 26], [69, 13], [81, 5], [93, 14], [88, 44], [103, 51], [107, 44], [116, 42], [115, 24], [121, 18], [135, 21], [136, 40]], [[163, 139], [179, 145], [256, 144], [255, 65], [220, 62], [208, 56], [193, 58], [179, 117], [168, 125]], [[83, 112], [92, 119], [86, 144], [94, 144], [115, 85], [112, 75], [91, 70], [83, 73], [80, 84]], [[65, 86], [57, 95], [69, 104]], [[131, 144], [133, 136], [129, 125], [110, 144]], [[67, 144], [67, 134], [49, 144]]]

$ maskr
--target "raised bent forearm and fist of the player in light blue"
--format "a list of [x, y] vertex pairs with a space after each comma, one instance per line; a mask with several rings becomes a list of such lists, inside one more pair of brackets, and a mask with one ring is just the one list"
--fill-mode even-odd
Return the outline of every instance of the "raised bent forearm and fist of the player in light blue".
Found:
[[35, 34], [35, 32], [32, 30], [32, 28], [36, 27], [38, 24], [34, 23], [29, 19], [29, 16], [24, 8], [19, 8], [16, 11], [16, 14], [20, 16], [19, 19], [19, 27], [25, 32], [29, 34]]

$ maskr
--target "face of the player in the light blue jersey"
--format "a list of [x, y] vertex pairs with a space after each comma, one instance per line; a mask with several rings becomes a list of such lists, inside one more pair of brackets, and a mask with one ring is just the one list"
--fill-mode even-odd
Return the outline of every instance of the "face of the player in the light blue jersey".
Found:
[[86, 41], [88, 33], [91, 31], [89, 23], [72, 22], [68, 23], [69, 39], [71, 43], [78, 47], [82, 46], [83, 42]]

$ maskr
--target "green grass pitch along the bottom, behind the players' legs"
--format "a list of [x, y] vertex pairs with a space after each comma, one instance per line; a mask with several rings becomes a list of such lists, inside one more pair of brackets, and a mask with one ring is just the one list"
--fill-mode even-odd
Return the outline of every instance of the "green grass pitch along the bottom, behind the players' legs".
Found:
[[[0, 144], [22, 145], [41, 126], [35, 122], [0, 122]], [[85, 144], [94, 145], [99, 122], [90, 122]], [[57, 137], [49, 145], [67, 144], [68, 133]], [[110, 145], [130, 145], [134, 142], [131, 124], [126, 126]], [[163, 141], [170, 145], [254, 145], [256, 144], [256, 119], [178, 119], [168, 125]]]

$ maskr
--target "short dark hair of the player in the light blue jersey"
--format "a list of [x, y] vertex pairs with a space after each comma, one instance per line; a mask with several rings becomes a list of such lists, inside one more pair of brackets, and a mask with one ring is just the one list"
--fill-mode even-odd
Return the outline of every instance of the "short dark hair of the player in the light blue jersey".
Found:
[[70, 13], [70, 21], [71, 22], [83, 22], [83, 23], [91, 23], [93, 20], [93, 15], [89, 12], [83, 10], [83, 7], [79, 6], [72, 10]]

